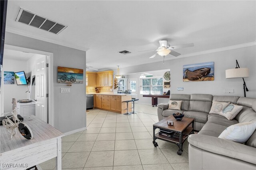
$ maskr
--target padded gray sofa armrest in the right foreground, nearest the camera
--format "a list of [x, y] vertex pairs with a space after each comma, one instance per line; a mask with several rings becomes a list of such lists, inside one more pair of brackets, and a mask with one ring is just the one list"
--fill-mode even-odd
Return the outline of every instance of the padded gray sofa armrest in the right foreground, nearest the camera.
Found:
[[204, 134], [190, 134], [188, 142], [202, 150], [256, 164], [256, 148]]

